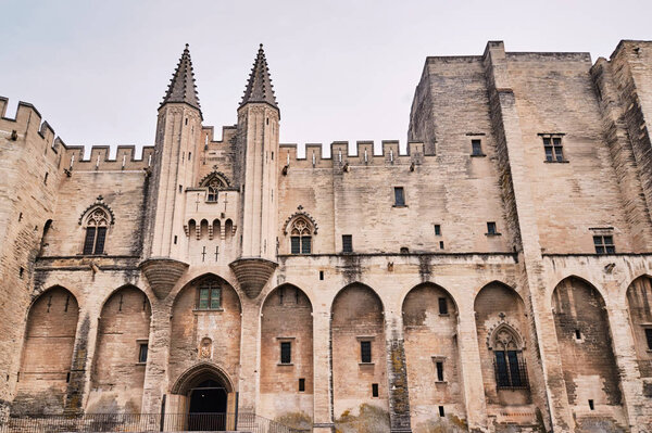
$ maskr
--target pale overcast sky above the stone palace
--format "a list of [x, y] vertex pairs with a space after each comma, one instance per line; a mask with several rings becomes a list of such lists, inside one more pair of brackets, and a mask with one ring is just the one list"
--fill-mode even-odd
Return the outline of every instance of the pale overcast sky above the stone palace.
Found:
[[184, 44], [204, 125], [236, 122], [259, 43], [284, 143], [399, 139], [427, 55], [588, 51], [652, 39], [652, 1], [0, 0], [0, 95], [66, 144], [153, 144]]

